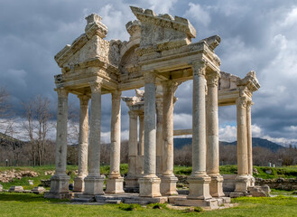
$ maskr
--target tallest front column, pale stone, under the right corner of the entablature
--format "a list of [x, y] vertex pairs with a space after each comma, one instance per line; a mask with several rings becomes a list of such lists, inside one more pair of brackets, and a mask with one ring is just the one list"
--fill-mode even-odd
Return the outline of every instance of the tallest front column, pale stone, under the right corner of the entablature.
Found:
[[193, 70], [193, 110], [192, 110], [192, 174], [188, 178], [189, 199], [209, 199], [210, 177], [206, 173], [206, 62], [198, 61]]

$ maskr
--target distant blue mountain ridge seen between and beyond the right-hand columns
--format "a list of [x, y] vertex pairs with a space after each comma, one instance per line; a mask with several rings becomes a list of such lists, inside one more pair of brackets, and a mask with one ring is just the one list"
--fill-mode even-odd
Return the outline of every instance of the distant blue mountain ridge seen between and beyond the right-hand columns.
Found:
[[[191, 144], [191, 137], [174, 138], [173, 143], [174, 143], [175, 148], [181, 149], [182, 146]], [[236, 146], [237, 145], [237, 141], [231, 142], [231, 143], [220, 141], [219, 143], [223, 146], [227, 146], [227, 145]], [[277, 145], [274, 142], [271, 142], [265, 138], [259, 138], [259, 137], [253, 137], [253, 147], [255, 147], [255, 146], [265, 147], [265, 148], [272, 150], [273, 152], [276, 152], [279, 149], [285, 148], [285, 147]]]

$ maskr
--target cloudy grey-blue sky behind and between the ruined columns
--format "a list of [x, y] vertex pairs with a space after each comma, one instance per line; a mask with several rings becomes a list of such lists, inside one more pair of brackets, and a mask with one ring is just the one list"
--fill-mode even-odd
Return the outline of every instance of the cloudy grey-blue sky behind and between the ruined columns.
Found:
[[[103, 17], [107, 40], [128, 40], [125, 24], [135, 20], [129, 5], [157, 14], [186, 17], [198, 31], [194, 42], [218, 34], [221, 71], [244, 77], [256, 71], [261, 89], [252, 109], [253, 136], [297, 144], [297, 2], [294, 0], [0, 0], [0, 87], [14, 108], [37, 94], [56, 105], [53, 76], [60, 73], [54, 55], [84, 33], [85, 16]], [[126, 91], [125, 96], [132, 96]], [[191, 127], [191, 82], [176, 92], [174, 128]], [[110, 96], [104, 96], [102, 136], [108, 142]], [[75, 105], [78, 99], [71, 97]], [[236, 108], [219, 109], [220, 140], [236, 140]], [[127, 108], [122, 104], [123, 138]]]

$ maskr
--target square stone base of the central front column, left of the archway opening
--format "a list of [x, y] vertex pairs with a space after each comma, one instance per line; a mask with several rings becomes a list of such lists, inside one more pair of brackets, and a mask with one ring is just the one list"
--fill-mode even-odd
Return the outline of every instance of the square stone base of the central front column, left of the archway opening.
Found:
[[141, 197], [160, 197], [161, 179], [157, 176], [145, 175], [138, 180], [139, 196]]

